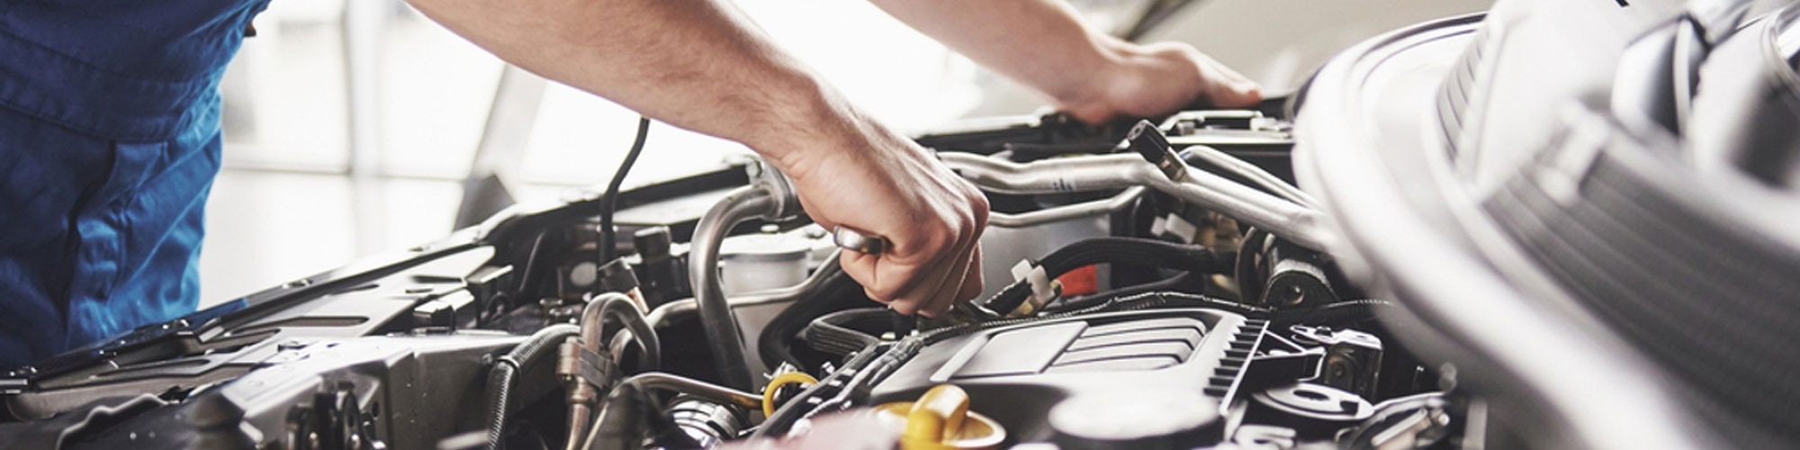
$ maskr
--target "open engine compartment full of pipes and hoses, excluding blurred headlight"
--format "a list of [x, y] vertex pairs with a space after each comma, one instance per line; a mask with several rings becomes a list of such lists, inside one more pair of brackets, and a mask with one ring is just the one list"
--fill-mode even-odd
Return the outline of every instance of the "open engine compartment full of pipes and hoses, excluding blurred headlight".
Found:
[[[1071, 162], [1145, 164], [1132, 142], [1208, 151], [1186, 167], [1262, 162], [1283, 173], [1224, 173], [1280, 180], [1280, 104], [1136, 131], [1049, 113], [922, 135], [965, 175], [1012, 164], [988, 167], [1001, 182], [983, 184], [985, 245], [1024, 261], [1015, 283], [995, 277], [940, 319], [868, 302], [803, 214], [697, 214], [783, 194], [779, 173], [743, 162], [621, 193], [617, 234], [632, 238], [607, 265], [601, 198], [515, 209], [13, 371], [0, 432], [18, 448], [697, 448], [779, 443], [821, 416], [956, 385], [992, 418], [985, 446], [1298, 446], [1373, 434], [1366, 421], [1399, 409], [1429, 410], [1426, 428], [1449, 436], [1456, 407], [1375, 320], [1395, 306], [1350, 297], [1327, 254], [1130, 180], [1004, 185]], [[697, 277], [697, 256], [720, 275]], [[709, 288], [751, 342], [751, 383], [715, 364], [695, 295]]]

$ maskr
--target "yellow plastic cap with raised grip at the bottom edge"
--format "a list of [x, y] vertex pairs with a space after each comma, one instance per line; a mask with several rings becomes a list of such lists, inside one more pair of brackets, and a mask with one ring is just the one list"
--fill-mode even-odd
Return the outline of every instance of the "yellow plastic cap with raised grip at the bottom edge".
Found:
[[997, 421], [968, 410], [968, 392], [956, 385], [938, 385], [918, 401], [884, 403], [875, 412], [904, 428], [902, 450], [997, 448], [1006, 441]]

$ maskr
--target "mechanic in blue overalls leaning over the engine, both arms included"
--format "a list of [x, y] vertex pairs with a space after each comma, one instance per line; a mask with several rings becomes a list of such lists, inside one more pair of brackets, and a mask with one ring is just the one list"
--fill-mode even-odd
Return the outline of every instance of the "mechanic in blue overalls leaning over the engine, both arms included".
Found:
[[[218, 81], [266, 2], [0, 4], [0, 367], [194, 310]], [[513, 65], [763, 155], [817, 223], [893, 243], [842, 257], [871, 299], [931, 315], [981, 292], [983, 194], [734, 7], [410, 2]], [[1105, 36], [1055, 0], [877, 4], [1087, 122], [1260, 97], [1188, 45]]]

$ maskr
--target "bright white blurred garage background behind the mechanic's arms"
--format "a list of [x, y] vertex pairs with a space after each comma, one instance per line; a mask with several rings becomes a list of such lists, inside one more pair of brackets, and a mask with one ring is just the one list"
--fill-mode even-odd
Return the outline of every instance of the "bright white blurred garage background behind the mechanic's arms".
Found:
[[[1193, 43], [1271, 94], [1291, 92], [1359, 40], [1489, 4], [1075, 2], [1102, 29]], [[866, 2], [736, 5], [844, 95], [902, 130], [1042, 106], [1035, 94]], [[455, 227], [464, 185], [491, 189], [490, 175], [506, 180], [518, 202], [554, 202], [603, 184], [635, 128], [634, 112], [605, 99], [518, 70], [502, 77], [499, 59], [400, 2], [274, 2], [256, 27], [223, 86], [225, 169], [209, 205], [203, 306], [437, 239]], [[743, 153], [659, 124], [626, 185]]]

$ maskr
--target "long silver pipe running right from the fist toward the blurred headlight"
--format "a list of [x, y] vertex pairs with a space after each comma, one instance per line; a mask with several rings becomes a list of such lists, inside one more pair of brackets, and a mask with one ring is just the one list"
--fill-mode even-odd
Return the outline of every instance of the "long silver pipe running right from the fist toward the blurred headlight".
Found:
[[1143, 185], [1312, 250], [1327, 250], [1327, 245], [1337, 239], [1330, 218], [1314, 209], [1193, 167], [1184, 167], [1183, 180], [1170, 180], [1139, 155], [1073, 157], [1028, 164], [972, 153], [938, 153], [938, 158], [963, 178], [994, 193], [1048, 194]]

